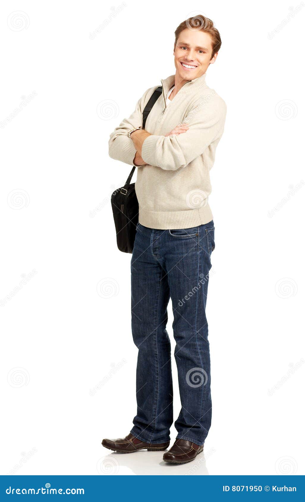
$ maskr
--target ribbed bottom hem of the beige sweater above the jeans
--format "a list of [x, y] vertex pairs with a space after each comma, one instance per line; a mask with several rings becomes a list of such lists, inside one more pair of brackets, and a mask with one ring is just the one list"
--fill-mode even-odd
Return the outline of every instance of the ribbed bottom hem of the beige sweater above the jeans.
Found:
[[205, 225], [213, 220], [209, 204], [186, 211], [148, 211], [139, 207], [139, 223], [148, 228], [170, 230]]

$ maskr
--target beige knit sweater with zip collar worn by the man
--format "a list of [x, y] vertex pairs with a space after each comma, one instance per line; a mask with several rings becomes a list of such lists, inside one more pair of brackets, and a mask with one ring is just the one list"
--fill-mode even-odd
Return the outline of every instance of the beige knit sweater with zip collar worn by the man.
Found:
[[[136, 194], [139, 222], [149, 228], [190, 228], [213, 219], [208, 197], [212, 187], [210, 169], [215, 151], [224, 132], [226, 103], [210, 89], [201, 75], [186, 82], [176, 96], [165, 103], [171, 75], [161, 80], [163, 92], [148, 115], [145, 139], [138, 167]], [[135, 111], [110, 135], [109, 155], [133, 165], [136, 154], [128, 132], [143, 127], [142, 112], [158, 86], [151, 87], [139, 99]], [[186, 133], [164, 135], [178, 124], [186, 123]]]

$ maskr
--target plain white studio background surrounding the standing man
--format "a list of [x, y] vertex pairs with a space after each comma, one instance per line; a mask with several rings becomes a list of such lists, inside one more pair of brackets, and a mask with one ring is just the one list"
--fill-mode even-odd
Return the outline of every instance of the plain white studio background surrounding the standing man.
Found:
[[[2, 474], [304, 474], [297, 5], [127, 0], [114, 17], [122, 3], [2, 2]], [[207, 83], [228, 107], [211, 172], [213, 424], [206, 456], [172, 468], [162, 452], [100, 445], [136, 414], [131, 255], [110, 204], [131, 167], [108, 157], [108, 140], [175, 72], [174, 30], [197, 13], [222, 37]], [[171, 340], [172, 320], [169, 308]]]

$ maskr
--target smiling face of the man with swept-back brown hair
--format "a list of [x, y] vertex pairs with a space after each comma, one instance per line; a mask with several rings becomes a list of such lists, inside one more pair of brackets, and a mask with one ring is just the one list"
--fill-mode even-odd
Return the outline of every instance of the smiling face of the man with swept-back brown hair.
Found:
[[186, 28], [178, 37], [174, 56], [176, 76], [184, 81], [193, 80], [206, 73], [209, 65], [215, 62], [217, 53], [211, 59], [212, 38], [209, 33]]

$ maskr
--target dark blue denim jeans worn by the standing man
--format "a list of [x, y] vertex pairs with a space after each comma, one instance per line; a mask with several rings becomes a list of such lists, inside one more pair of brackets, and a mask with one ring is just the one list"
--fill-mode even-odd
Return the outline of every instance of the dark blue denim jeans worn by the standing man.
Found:
[[131, 433], [147, 443], [170, 440], [173, 386], [166, 331], [173, 308], [175, 360], [181, 411], [177, 438], [202, 445], [211, 418], [210, 348], [206, 301], [214, 222], [193, 228], [158, 230], [137, 224], [131, 260], [131, 312], [137, 363], [137, 415]]

